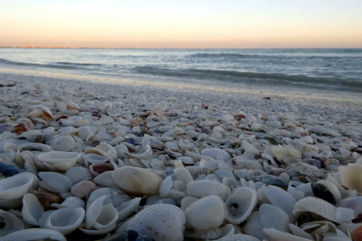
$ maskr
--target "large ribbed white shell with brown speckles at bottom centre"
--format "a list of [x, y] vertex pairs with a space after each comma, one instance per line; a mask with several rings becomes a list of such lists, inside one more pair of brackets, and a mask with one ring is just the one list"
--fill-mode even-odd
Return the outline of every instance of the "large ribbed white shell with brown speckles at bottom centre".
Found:
[[185, 214], [171, 204], [155, 204], [127, 221], [127, 229], [140, 232], [155, 241], [183, 241]]

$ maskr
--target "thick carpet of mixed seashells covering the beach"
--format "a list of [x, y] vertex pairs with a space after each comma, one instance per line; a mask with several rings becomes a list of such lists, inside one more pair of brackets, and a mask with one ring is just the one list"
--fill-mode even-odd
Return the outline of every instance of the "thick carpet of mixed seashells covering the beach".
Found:
[[1, 89], [0, 241], [361, 240], [361, 116], [48, 84]]

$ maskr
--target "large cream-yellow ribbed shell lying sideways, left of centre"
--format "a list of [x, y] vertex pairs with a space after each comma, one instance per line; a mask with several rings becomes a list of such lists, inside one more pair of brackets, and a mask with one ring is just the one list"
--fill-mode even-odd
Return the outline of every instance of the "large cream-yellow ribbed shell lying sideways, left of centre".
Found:
[[143, 168], [123, 166], [112, 172], [112, 178], [122, 189], [130, 193], [156, 194], [163, 179]]

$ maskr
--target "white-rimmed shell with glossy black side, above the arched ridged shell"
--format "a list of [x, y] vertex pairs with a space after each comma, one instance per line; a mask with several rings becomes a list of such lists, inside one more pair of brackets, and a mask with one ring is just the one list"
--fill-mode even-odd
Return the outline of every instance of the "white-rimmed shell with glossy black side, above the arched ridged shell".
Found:
[[311, 188], [315, 197], [323, 199], [333, 205], [341, 201], [341, 194], [332, 182], [326, 180], [312, 181]]

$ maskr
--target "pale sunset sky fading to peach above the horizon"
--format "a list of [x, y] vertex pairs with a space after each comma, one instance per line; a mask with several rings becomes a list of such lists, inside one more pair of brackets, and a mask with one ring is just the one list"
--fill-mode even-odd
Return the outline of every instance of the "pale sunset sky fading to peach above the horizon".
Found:
[[0, 46], [362, 47], [362, 0], [0, 0]]

